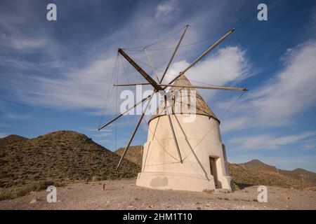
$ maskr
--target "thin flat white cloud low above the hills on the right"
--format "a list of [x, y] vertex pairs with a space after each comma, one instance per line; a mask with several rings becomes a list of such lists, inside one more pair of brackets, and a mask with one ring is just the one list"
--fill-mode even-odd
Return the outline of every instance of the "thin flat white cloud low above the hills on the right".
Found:
[[287, 146], [297, 143], [303, 139], [314, 136], [313, 132], [306, 132], [303, 134], [287, 135], [284, 137], [274, 137], [271, 135], [257, 135], [252, 137], [240, 137], [230, 140], [235, 144], [234, 148], [243, 150], [273, 150], [281, 146]]

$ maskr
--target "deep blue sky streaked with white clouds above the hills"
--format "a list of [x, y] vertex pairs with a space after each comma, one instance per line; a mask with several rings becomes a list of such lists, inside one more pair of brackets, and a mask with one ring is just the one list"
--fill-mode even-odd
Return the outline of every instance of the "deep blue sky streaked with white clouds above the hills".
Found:
[[[57, 21], [46, 20], [48, 3], [56, 4]], [[267, 4], [268, 21], [258, 21], [258, 3]], [[169, 71], [178, 73], [235, 27], [187, 73], [193, 84], [249, 87], [224, 118], [221, 115], [240, 92], [201, 91], [221, 120], [228, 160], [258, 158], [283, 169], [316, 172], [315, 1], [2, 0], [0, 4], [1, 137], [34, 138], [74, 130], [110, 150], [124, 147], [137, 116], [126, 116], [96, 132], [108, 88], [112, 95], [102, 122], [115, 114], [110, 77], [117, 48], [147, 45], [177, 31], [148, 48], [154, 66], [164, 69], [172, 50], [157, 49], [173, 46], [180, 29], [189, 24], [184, 45], [207, 41], [180, 48]], [[147, 62], [142, 52], [130, 52]], [[126, 62], [124, 66], [129, 80], [143, 81]], [[151, 73], [146, 65], [143, 68]], [[121, 70], [119, 83], [126, 83], [124, 77]], [[143, 144], [146, 137], [144, 122], [133, 145]]]

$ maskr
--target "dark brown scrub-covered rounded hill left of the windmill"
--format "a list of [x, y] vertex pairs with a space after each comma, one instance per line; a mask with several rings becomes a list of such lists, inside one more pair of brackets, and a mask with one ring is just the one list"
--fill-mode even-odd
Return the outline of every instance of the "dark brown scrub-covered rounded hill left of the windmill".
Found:
[[58, 131], [1, 146], [0, 193], [39, 181], [69, 183], [92, 179], [134, 178], [140, 167], [72, 131]]

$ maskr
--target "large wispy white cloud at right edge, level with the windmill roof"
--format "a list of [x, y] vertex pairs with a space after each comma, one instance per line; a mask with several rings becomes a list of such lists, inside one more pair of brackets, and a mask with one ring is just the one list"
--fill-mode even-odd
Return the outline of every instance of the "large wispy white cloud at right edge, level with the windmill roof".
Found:
[[287, 123], [316, 99], [316, 42], [310, 41], [285, 56], [286, 67], [277, 77], [254, 93], [252, 105], [265, 121]]

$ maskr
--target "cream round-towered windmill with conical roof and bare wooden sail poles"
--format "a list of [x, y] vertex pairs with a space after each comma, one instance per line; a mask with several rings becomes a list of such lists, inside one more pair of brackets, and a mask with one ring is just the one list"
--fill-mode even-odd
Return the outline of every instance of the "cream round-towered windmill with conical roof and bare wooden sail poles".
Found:
[[[174, 49], [171, 59], [164, 69], [162, 78], [154, 80], [146, 73], [126, 52], [119, 48], [118, 52], [123, 56], [140, 73], [147, 83], [117, 84], [114, 86], [133, 86], [133, 85], [151, 85], [153, 92], [151, 95], [143, 98], [131, 108], [127, 109], [119, 116], [113, 118], [103, 128], [110, 125], [115, 120], [124, 116], [139, 104], [147, 102], [145, 109], [138, 118], [136, 127], [121, 155], [117, 169], [129, 150], [131, 142], [135, 137], [145, 112], [150, 105], [155, 93], [162, 93], [164, 99], [160, 102], [157, 111], [152, 115], [148, 122], [147, 142], [143, 149], [142, 170], [138, 174], [136, 185], [157, 189], [173, 190], [192, 190], [202, 191], [205, 189], [213, 190], [215, 188], [231, 189], [231, 178], [228, 172], [225, 146], [221, 142], [219, 123], [220, 120], [211, 111], [209, 106], [204, 102], [201, 95], [196, 89], [213, 89], [213, 90], [237, 90], [246, 91], [246, 88], [239, 87], [211, 87], [211, 86], [194, 86], [185, 77], [185, 73], [195, 66], [211, 50], [216, 48], [225, 38], [232, 34], [235, 29], [230, 29], [216, 43], [211, 45], [201, 56], [197, 57], [192, 64], [187, 66], [169, 83], [164, 84], [164, 78], [169, 70], [173, 58], [178, 51], [180, 43], [183, 41], [187, 26], [184, 27], [176, 48]], [[144, 49], [145, 50], [145, 49]], [[152, 64], [147, 51], [147, 58]], [[152, 69], [153, 66], [152, 66]], [[155, 74], [155, 73], [154, 73]], [[169, 90], [169, 91], [167, 91]], [[178, 97], [178, 92], [185, 92]], [[187, 99], [195, 93], [195, 104], [187, 102]], [[177, 113], [176, 106], [189, 104], [180, 113]], [[184, 107], [185, 108], [185, 107]], [[195, 109], [195, 119], [191, 122], [185, 120], [188, 115], [192, 115], [191, 109]]]

